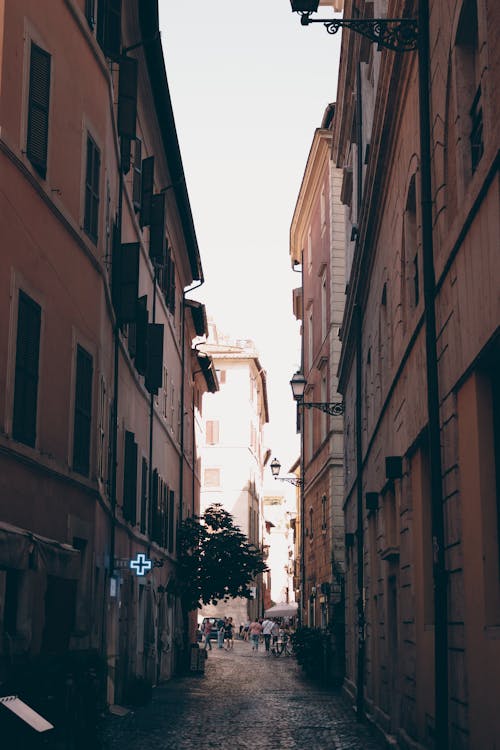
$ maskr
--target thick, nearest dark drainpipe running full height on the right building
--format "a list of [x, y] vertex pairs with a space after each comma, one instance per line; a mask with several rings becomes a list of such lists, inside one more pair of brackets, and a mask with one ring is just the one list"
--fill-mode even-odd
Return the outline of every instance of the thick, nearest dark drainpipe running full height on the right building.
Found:
[[420, 175], [422, 271], [424, 279], [425, 349], [429, 468], [434, 550], [434, 701], [436, 747], [447, 750], [448, 736], [448, 600], [444, 549], [444, 512], [436, 351], [436, 280], [432, 234], [431, 127], [429, 102], [429, 2], [419, 3], [418, 84], [420, 112]]

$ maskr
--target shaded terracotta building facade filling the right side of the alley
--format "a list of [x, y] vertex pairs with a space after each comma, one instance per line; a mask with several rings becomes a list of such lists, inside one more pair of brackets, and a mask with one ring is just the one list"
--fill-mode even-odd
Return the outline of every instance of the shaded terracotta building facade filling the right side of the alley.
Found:
[[420, 48], [342, 38], [345, 687], [400, 747], [493, 750], [500, 8], [347, 0], [355, 12], [418, 16]]

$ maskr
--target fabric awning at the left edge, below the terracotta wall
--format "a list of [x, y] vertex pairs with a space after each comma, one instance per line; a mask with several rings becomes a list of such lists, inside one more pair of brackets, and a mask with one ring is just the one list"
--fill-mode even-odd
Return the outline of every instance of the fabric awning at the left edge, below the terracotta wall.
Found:
[[56, 578], [80, 577], [80, 552], [69, 544], [0, 522], [0, 568], [39, 570]]

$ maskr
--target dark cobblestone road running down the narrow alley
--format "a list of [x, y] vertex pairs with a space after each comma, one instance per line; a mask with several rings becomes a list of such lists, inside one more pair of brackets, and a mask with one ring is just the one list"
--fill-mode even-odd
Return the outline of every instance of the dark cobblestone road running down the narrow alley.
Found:
[[208, 652], [205, 674], [175, 678], [151, 704], [106, 720], [106, 750], [383, 750], [336, 692], [302, 677], [295, 659], [249, 643]]

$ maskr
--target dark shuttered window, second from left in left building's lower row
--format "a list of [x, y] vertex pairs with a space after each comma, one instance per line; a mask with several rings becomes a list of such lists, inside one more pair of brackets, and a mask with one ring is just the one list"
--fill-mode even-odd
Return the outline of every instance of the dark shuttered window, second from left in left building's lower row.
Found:
[[92, 357], [80, 345], [76, 348], [75, 422], [73, 430], [73, 470], [88, 476], [90, 468], [90, 428], [92, 424]]

